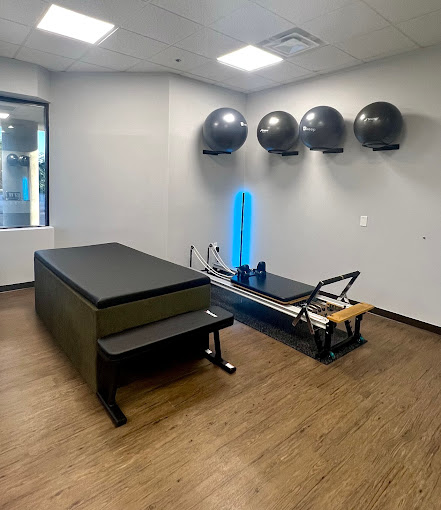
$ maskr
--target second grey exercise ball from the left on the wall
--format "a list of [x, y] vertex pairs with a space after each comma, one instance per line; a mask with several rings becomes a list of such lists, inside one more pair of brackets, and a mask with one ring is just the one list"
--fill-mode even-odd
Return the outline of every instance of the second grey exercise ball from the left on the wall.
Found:
[[257, 139], [267, 151], [287, 151], [294, 145], [298, 136], [297, 121], [288, 112], [268, 113], [257, 126]]

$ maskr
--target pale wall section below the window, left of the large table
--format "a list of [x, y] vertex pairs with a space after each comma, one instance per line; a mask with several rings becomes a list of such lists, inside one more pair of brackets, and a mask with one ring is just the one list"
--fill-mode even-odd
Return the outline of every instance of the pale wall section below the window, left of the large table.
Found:
[[53, 247], [52, 227], [1, 230], [0, 287], [34, 281], [34, 252]]

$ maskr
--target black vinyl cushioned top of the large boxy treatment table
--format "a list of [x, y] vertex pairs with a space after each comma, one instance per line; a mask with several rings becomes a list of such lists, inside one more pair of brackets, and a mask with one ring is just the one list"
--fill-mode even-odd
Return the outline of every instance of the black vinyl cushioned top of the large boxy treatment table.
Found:
[[119, 243], [35, 252], [35, 258], [97, 308], [208, 285], [208, 276]]

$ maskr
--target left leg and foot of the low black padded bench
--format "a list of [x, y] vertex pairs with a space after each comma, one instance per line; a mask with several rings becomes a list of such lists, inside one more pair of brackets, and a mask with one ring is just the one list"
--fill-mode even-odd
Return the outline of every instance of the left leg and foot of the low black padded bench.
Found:
[[118, 389], [119, 363], [105, 359], [98, 353], [98, 391], [97, 397], [112, 419], [115, 427], [127, 423], [125, 414], [116, 403], [116, 390]]

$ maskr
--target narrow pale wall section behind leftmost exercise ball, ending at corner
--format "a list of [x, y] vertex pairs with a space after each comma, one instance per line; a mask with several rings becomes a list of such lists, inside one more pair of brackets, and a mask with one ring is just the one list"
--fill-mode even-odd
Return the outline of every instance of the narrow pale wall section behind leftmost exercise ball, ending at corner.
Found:
[[231, 259], [233, 201], [243, 188], [245, 151], [202, 154], [202, 125], [217, 108], [245, 113], [246, 96], [220, 87], [170, 77], [168, 258], [188, 264], [189, 248], [218, 242]]

